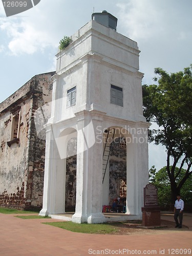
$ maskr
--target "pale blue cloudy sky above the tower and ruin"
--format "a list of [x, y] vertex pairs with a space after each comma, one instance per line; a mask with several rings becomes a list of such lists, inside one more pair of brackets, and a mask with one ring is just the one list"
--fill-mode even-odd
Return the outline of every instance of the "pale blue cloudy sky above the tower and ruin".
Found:
[[[142, 84], [154, 83], [154, 69], [182, 71], [192, 63], [191, 0], [41, 0], [6, 17], [0, 2], [0, 102], [36, 74], [55, 71], [59, 41], [106, 10], [118, 18], [117, 32], [137, 41]], [[165, 149], [150, 144], [149, 167], [166, 165]]]

